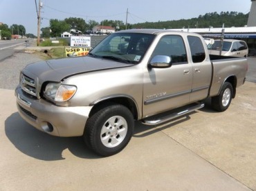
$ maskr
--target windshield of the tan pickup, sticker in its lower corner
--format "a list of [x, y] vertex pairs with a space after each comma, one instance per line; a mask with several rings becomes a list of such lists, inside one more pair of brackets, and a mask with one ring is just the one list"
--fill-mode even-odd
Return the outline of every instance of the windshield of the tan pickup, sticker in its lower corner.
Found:
[[139, 63], [154, 37], [154, 34], [113, 33], [95, 46], [89, 56], [123, 63]]

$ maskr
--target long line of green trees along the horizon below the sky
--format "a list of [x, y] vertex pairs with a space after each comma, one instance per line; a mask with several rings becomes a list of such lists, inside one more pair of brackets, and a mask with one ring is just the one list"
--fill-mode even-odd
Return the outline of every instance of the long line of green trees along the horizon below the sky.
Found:
[[[83, 34], [91, 30], [94, 26], [111, 26], [116, 30], [125, 30], [131, 28], [221, 28], [223, 23], [225, 27], [243, 27], [248, 21], [248, 14], [241, 12], [210, 12], [199, 15], [192, 19], [179, 19], [172, 21], [158, 21], [127, 24], [119, 20], [103, 20], [100, 22], [89, 20], [84, 21], [82, 18], [69, 17], [64, 20], [50, 19], [49, 26], [41, 28], [42, 37], [60, 37], [63, 32], [69, 32], [71, 29], [80, 30]], [[22, 25], [13, 24], [8, 27], [6, 24], [0, 26], [1, 37], [10, 39], [12, 34], [19, 34], [26, 37], [35, 37], [33, 34], [26, 34], [26, 28]]]

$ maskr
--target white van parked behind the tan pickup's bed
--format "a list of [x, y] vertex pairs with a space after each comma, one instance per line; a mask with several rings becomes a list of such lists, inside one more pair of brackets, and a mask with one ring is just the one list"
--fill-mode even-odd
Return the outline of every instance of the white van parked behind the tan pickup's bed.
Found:
[[[208, 44], [209, 54], [219, 55], [221, 40], [214, 40], [213, 44]], [[247, 57], [248, 46], [245, 41], [224, 39], [221, 55], [229, 57]]]

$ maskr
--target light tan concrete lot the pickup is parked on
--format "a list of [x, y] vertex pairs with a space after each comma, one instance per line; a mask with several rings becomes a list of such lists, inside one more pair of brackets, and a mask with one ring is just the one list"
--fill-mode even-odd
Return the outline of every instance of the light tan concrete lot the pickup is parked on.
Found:
[[256, 83], [226, 112], [205, 108], [159, 126], [136, 123], [127, 147], [98, 157], [81, 137], [52, 137], [0, 89], [0, 190], [256, 190]]

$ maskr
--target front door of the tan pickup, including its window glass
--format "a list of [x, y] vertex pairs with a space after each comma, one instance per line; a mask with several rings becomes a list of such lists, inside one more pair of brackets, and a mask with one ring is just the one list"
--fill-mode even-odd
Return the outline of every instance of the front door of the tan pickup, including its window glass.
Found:
[[170, 68], [145, 71], [143, 87], [143, 118], [185, 105], [190, 101], [192, 65], [188, 62], [183, 37], [167, 35], [161, 38], [152, 57], [167, 55]]

